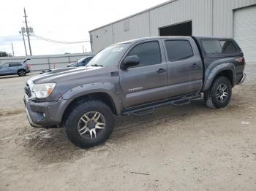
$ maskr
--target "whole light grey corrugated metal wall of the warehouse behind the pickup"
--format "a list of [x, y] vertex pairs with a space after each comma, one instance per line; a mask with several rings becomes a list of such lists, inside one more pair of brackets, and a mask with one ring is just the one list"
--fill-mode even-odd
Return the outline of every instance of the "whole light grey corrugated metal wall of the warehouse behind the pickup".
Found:
[[193, 35], [233, 37], [233, 9], [253, 4], [256, 0], [169, 1], [90, 31], [92, 50], [98, 52], [110, 44], [128, 39], [159, 36], [159, 28], [188, 20], [192, 20]]

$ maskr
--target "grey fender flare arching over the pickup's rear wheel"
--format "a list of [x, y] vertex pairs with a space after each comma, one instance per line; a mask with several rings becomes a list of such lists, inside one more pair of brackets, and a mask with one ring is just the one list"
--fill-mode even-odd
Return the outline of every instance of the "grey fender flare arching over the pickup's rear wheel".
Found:
[[203, 85], [203, 91], [208, 90], [211, 87], [211, 83], [214, 81], [214, 78], [219, 74], [221, 71], [231, 71], [233, 77], [233, 83], [236, 82], [236, 73], [235, 73], [235, 66], [233, 63], [221, 63], [214, 68], [208, 68], [205, 74], [205, 82]]

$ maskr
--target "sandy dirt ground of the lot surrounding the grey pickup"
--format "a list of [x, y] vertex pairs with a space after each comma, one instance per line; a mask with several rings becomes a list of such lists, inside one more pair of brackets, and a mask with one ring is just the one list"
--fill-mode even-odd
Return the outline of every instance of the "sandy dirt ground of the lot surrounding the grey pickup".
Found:
[[[256, 65], [225, 109], [203, 100], [121, 117], [80, 149], [63, 129], [31, 128], [28, 77], [0, 77], [0, 190], [256, 190]], [[30, 74], [31, 76], [31, 74]]]

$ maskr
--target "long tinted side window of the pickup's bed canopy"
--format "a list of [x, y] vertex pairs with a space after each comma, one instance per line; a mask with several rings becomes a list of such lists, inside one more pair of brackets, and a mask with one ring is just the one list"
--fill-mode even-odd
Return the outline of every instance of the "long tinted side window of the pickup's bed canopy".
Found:
[[203, 40], [203, 50], [206, 54], [222, 54], [237, 52], [235, 44], [230, 40]]

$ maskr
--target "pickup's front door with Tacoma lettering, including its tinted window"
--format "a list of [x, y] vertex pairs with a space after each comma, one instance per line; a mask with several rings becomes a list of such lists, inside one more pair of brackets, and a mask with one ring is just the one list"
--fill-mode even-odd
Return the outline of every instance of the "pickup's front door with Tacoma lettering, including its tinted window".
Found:
[[139, 42], [126, 56], [138, 55], [140, 63], [119, 71], [125, 108], [168, 98], [167, 64], [159, 40]]

